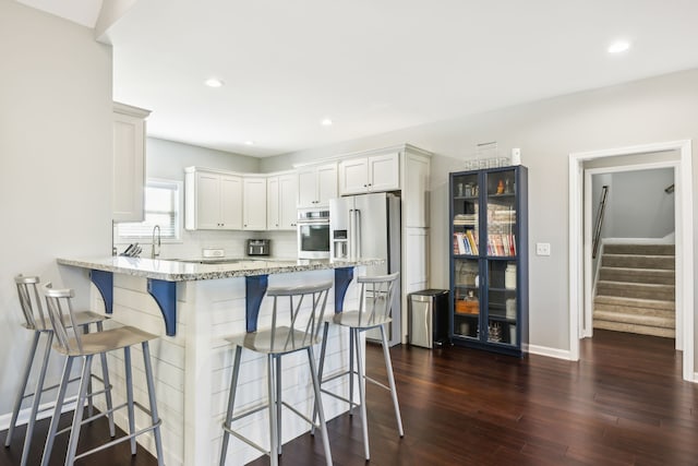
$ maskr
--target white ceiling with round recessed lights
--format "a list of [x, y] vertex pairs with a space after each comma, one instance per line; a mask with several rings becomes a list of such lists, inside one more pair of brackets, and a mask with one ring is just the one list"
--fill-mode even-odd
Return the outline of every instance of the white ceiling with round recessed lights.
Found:
[[151, 135], [269, 156], [698, 68], [697, 19], [696, 0], [147, 0], [108, 40]]

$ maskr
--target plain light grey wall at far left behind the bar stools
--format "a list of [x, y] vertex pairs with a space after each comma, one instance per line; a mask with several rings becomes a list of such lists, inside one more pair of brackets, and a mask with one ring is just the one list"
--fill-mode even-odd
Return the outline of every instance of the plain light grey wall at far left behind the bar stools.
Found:
[[91, 29], [1, 0], [0, 57], [1, 430], [31, 337], [14, 275], [75, 288], [86, 307], [85, 276], [56, 258], [110, 253], [111, 48]]

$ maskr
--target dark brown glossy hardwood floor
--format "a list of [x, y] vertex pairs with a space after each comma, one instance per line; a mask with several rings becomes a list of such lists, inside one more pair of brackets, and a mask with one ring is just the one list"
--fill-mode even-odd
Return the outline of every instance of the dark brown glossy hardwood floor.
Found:
[[[371, 464], [698, 465], [698, 385], [682, 381], [673, 346], [672, 339], [597, 331], [582, 342], [579, 362], [396, 347], [405, 438], [397, 435], [388, 393], [369, 384]], [[381, 358], [380, 347], [369, 345], [373, 377], [384, 373]], [[41, 422], [37, 435], [46, 428]], [[359, 417], [340, 416], [328, 428], [334, 463], [365, 465]], [[83, 443], [104, 435], [104, 427], [92, 430]], [[10, 449], [0, 447], [0, 465], [19, 464], [23, 429], [19, 433]], [[156, 464], [142, 451], [131, 458], [127, 449], [82, 464]], [[64, 450], [62, 440], [55, 464]], [[287, 443], [280, 463], [324, 465], [320, 438]]]

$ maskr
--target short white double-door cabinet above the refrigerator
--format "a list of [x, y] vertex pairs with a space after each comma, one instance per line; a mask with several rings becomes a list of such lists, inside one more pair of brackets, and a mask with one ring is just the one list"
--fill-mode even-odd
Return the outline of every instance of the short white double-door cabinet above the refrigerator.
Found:
[[339, 193], [341, 195], [399, 189], [398, 153], [350, 158], [339, 163]]

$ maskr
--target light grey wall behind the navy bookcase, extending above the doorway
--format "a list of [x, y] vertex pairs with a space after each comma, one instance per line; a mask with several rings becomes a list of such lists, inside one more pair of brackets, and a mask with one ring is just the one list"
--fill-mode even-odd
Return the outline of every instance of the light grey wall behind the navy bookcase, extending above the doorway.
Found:
[[262, 160], [261, 169], [405, 142], [434, 152], [431, 286], [447, 288], [448, 172], [462, 169], [478, 143], [497, 141], [503, 155], [521, 147], [529, 167], [529, 250], [537, 242], [549, 242], [552, 249], [550, 256], [530, 255], [530, 344], [564, 353], [569, 349], [569, 154], [695, 139], [696, 121], [698, 70], [690, 70], [272, 157]]

